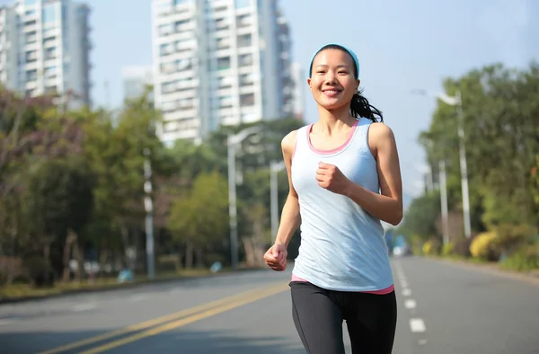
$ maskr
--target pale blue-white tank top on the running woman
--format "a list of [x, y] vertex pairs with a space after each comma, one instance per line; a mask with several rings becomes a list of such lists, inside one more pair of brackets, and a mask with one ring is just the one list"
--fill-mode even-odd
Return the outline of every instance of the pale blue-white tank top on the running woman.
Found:
[[292, 158], [292, 183], [299, 197], [301, 245], [293, 275], [340, 291], [379, 291], [393, 287], [384, 229], [348, 197], [316, 181], [318, 163], [334, 164], [351, 181], [379, 193], [376, 160], [367, 142], [372, 121], [358, 119], [349, 139], [332, 150], [311, 145], [312, 124], [299, 128]]

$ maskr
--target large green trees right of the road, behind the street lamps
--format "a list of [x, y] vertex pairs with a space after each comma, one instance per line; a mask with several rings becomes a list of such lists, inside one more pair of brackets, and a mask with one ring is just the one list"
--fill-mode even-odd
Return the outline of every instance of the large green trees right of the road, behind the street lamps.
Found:
[[[482, 224], [495, 227], [535, 220], [529, 171], [539, 151], [538, 85], [539, 66], [535, 63], [523, 71], [485, 66], [444, 84], [448, 94], [457, 89], [462, 94], [476, 231], [482, 230]], [[439, 102], [429, 130], [420, 139], [431, 163], [446, 160], [449, 199], [453, 201], [455, 195], [460, 197], [461, 187], [457, 124], [455, 107]]]

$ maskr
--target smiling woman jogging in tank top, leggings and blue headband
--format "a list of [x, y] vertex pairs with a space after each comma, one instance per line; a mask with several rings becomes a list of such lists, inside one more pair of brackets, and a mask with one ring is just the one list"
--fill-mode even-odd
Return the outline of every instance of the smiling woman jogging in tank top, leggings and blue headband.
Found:
[[358, 57], [330, 44], [310, 63], [307, 84], [319, 119], [282, 140], [289, 193], [272, 270], [287, 267], [287, 245], [301, 224], [290, 288], [296, 330], [310, 354], [393, 350], [396, 300], [381, 221], [402, 219], [402, 183], [393, 132], [358, 92]]

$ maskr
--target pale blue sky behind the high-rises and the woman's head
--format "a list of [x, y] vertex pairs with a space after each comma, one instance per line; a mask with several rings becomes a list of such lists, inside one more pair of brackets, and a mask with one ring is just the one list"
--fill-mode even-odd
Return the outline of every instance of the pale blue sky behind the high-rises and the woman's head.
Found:
[[[87, 4], [93, 9], [93, 102], [118, 107], [121, 67], [152, 64], [151, 1]], [[365, 95], [397, 138], [407, 194], [420, 191], [424, 154], [416, 141], [436, 103], [410, 90], [436, 91], [445, 77], [494, 62], [522, 67], [539, 60], [535, 0], [281, 0], [280, 6], [291, 27], [293, 59], [305, 72], [326, 42], [358, 54]], [[306, 84], [305, 95], [305, 120], [312, 122], [318, 117]]]

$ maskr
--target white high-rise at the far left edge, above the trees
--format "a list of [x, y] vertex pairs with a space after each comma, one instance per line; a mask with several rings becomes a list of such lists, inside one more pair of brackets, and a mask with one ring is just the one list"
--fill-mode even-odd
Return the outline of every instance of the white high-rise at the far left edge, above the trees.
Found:
[[70, 0], [17, 0], [0, 6], [0, 79], [30, 96], [72, 93], [91, 105], [90, 8]]

